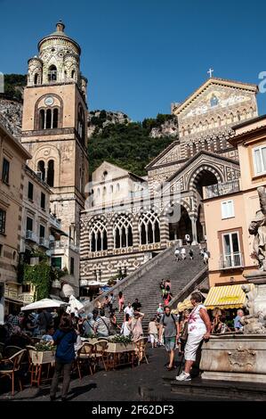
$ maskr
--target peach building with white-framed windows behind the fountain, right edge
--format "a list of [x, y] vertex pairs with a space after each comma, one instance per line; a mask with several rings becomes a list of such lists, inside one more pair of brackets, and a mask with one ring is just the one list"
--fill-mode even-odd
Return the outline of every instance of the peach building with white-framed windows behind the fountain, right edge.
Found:
[[258, 267], [249, 226], [260, 209], [257, 187], [266, 185], [266, 117], [238, 124], [234, 131], [230, 143], [238, 147], [241, 176], [205, 191], [211, 286], [243, 283]]

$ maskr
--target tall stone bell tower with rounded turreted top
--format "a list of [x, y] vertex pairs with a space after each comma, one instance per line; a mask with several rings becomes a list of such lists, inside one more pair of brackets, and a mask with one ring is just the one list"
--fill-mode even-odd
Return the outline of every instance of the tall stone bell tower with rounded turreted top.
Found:
[[28, 165], [51, 186], [51, 211], [75, 246], [88, 182], [87, 79], [80, 54], [62, 21], [39, 41], [38, 54], [28, 60], [21, 136], [33, 156]]

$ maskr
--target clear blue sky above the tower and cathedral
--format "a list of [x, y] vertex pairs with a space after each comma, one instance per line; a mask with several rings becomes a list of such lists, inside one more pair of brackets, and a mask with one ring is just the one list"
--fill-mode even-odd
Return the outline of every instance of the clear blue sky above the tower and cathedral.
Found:
[[[82, 47], [89, 108], [142, 120], [169, 113], [210, 67], [215, 77], [258, 84], [265, 15], [262, 0], [0, 0], [0, 71], [26, 73], [37, 41], [62, 19]], [[258, 102], [266, 113], [266, 94]]]

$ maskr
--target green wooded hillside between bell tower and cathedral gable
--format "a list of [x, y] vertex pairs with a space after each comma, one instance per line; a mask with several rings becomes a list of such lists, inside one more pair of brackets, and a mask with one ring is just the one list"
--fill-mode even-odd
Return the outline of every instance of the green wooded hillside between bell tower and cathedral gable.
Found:
[[107, 160], [136, 175], [145, 176], [145, 166], [149, 161], [173, 142], [170, 136], [151, 138], [150, 130], [173, 118], [173, 115], [158, 114], [157, 119], [144, 119], [143, 123], [111, 124], [101, 133], [96, 128], [88, 143], [90, 172]]

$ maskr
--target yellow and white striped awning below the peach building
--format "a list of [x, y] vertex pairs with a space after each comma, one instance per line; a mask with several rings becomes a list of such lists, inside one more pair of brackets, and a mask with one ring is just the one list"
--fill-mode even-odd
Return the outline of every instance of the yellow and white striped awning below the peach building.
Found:
[[[251, 289], [254, 283], [250, 283]], [[243, 308], [246, 305], [246, 293], [241, 284], [215, 286], [208, 292], [204, 305], [207, 309], [218, 308]]]

